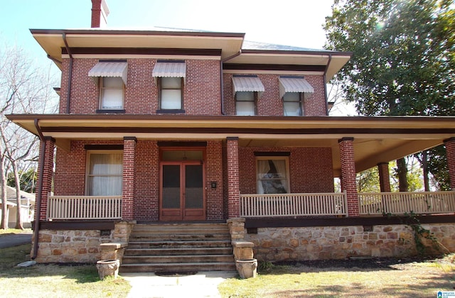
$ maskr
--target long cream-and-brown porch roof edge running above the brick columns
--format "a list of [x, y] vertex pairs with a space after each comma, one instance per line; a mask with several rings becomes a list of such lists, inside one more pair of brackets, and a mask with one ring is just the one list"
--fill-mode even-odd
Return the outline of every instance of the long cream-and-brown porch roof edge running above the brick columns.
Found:
[[225, 128], [245, 130], [444, 131], [455, 133], [455, 116], [166, 116], [145, 114], [9, 114], [9, 120], [37, 134], [34, 121], [52, 128]]

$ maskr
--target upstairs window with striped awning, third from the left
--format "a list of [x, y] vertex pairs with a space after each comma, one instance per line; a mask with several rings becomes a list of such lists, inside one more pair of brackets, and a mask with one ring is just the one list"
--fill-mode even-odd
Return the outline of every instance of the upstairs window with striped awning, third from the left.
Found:
[[233, 75], [232, 90], [235, 98], [235, 114], [256, 115], [256, 103], [264, 93], [264, 85], [257, 75]]

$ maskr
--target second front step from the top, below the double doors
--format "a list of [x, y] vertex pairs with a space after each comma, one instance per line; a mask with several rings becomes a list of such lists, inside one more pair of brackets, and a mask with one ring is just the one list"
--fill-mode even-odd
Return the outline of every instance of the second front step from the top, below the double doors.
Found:
[[168, 233], [165, 235], [162, 234], [132, 234], [129, 236], [129, 241], [131, 242], [144, 242], [144, 241], [204, 241], [204, 240], [229, 240], [229, 233], [200, 233], [200, 234], [181, 234], [181, 233]]

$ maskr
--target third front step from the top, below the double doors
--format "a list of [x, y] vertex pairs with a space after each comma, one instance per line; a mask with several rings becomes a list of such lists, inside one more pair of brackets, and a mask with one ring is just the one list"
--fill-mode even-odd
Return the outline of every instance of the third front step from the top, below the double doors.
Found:
[[229, 248], [229, 240], [205, 241], [129, 241], [128, 248]]

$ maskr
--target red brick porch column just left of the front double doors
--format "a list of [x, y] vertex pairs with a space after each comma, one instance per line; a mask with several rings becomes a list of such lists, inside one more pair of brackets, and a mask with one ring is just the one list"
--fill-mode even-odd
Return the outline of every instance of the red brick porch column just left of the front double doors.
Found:
[[135, 137], [124, 137], [123, 140], [123, 185], [122, 185], [122, 219], [134, 219], [134, 160], [136, 159]]

